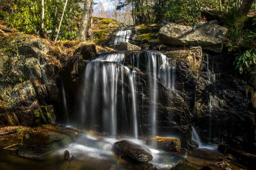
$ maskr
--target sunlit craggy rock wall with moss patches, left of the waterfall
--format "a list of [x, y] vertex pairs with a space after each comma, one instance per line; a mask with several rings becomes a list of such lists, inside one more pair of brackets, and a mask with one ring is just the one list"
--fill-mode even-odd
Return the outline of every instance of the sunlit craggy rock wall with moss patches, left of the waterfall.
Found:
[[[8, 43], [7, 43], [8, 42]], [[59, 100], [57, 67], [47, 63], [49, 47], [33, 36], [1, 35], [0, 125], [55, 123]]]

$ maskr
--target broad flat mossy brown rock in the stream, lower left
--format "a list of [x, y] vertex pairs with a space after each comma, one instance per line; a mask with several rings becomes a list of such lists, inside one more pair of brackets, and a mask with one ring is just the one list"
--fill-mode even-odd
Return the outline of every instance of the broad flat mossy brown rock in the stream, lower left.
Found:
[[66, 126], [41, 125], [22, 139], [18, 155], [26, 158], [38, 158], [69, 145], [82, 133]]

